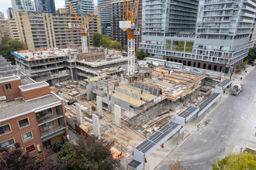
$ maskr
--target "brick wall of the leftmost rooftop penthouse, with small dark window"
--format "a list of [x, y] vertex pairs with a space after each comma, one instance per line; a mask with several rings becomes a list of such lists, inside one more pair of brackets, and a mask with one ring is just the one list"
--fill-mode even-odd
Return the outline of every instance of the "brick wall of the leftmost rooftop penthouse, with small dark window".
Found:
[[[11, 84], [12, 89], [11, 90], [6, 90], [5, 84]], [[6, 83], [0, 83], [0, 97], [5, 96], [6, 100], [12, 100], [14, 98], [20, 97], [20, 90], [19, 86], [22, 85], [21, 80], [14, 80], [11, 82], [6, 82]]]

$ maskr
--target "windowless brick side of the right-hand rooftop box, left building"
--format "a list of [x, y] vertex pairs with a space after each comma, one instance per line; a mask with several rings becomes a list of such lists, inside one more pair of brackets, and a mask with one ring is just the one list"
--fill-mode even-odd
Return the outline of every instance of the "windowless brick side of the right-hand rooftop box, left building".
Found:
[[38, 89], [23, 91], [21, 94], [24, 100], [30, 100], [36, 97], [42, 97], [47, 94], [50, 94], [50, 87], [47, 86], [47, 87], [42, 87]]

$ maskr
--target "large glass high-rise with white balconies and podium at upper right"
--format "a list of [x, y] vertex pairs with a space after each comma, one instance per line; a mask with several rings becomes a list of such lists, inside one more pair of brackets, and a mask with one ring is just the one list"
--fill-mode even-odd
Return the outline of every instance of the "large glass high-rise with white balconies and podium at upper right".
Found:
[[161, 2], [144, 0], [140, 48], [150, 56], [225, 73], [247, 56], [255, 0]]

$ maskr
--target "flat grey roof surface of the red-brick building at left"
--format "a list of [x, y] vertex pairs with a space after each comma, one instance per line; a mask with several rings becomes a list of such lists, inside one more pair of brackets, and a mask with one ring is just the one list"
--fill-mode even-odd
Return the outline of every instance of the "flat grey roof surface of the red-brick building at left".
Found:
[[18, 117], [19, 114], [32, 111], [37, 107], [43, 107], [47, 104], [53, 104], [59, 101], [52, 94], [46, 97], [41, 97], [36, 100], [30, 100], [25, 102], [22, 99], [13, 100], [0, 104], [0, 122], [5, 121], [4, 119], [11, 119], [12, 117]]

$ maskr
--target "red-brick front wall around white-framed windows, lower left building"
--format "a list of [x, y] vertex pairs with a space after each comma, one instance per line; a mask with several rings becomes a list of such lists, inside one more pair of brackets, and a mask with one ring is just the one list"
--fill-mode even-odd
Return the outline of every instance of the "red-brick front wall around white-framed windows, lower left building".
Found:
[[[18, 121], [21, 119], [24, 119], [28, 117], [29, 119], [29, 126], [25, 127], [25, 128], [19, 128], [19, 124]], [[29, 145], [42, 145], [41, 139], [40, 139], [40, 131], [38, 129], [38, 125], [37, 125], [37, 121], [36, 121], [36, 114], [30, 113], [30, 114], [25, 114], [22, 115], [20, 117], [16, 117], [13, 118], [9, 121], [4, 121], [0, 123], [0, 126], [5, 125], [5, 124], [10, 124], [12, 132], [10, 132], [9, 134], [3, 134], [2, 136], [0, 136], [0, 143], [2, 143], [3, 141], [7, 141], [11, 138], [14, 138], [14, 141], [16, 143], [20, 143], [22, 151], [26, 151], [26, 147], [28, 147]], [[29, 141], [22, 141], [22, 134], [25, 134], [26, 132], [32, 131], [33, 134], [33, 139], [30, 139]], [[15, 147], [12, 147], [12, 149], [15, 149]], [[37, 155], [36, 151], [33, 151], [30, 153], [31, 156]]]

